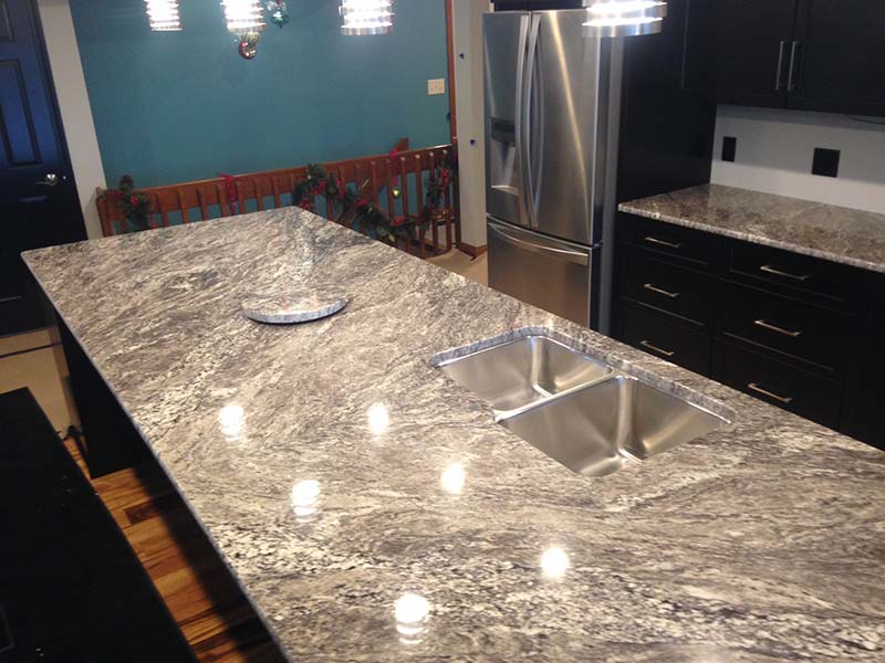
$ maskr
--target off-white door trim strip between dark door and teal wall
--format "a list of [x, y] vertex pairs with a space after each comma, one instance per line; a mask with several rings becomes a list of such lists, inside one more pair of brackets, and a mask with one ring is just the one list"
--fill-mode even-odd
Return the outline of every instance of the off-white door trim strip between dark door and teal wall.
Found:
[[67, 0], [38, 0], [74, 180], [88, 236], [102, 236], [95, 188], [106, 186]]

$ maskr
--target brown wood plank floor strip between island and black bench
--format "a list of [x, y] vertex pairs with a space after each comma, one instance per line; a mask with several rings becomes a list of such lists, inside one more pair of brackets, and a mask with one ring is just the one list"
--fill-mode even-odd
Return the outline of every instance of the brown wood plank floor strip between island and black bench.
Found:
[[[88, 477], [73, 440], [65, 446]], [[91, 480], [201, 662], [283, 659], [156, 464]]]

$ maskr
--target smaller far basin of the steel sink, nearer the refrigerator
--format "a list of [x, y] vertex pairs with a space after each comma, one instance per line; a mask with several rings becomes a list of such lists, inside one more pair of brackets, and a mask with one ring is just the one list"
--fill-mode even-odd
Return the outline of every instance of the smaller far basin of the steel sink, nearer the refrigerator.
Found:
[[439, 362], [437, 368], [491, 403], [499, 419], [613, 372], [546, 336], [523, 336]]

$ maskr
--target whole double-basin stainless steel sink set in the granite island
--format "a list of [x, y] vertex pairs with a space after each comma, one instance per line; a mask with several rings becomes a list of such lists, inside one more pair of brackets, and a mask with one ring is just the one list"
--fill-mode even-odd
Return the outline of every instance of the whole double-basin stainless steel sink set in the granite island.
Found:
[[613, 474], [729, 423], [543, 335], [454, 355], [433, 364], [489, 402], [498, 423], [586, 476]]

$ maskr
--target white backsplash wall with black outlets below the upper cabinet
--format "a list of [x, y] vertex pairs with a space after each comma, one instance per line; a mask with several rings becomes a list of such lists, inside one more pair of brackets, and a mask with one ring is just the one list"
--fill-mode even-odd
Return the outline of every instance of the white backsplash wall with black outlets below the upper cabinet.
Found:
[[[719, 106], [710, 179], [843, 207], [885, 212], [885, 118]], [[870, 124], [872, 122], [883, 124]], [[722, 137], [735, 136], [735, 162]], [[839, 177], [811, 175], [814, 148], [841, 151]]]

